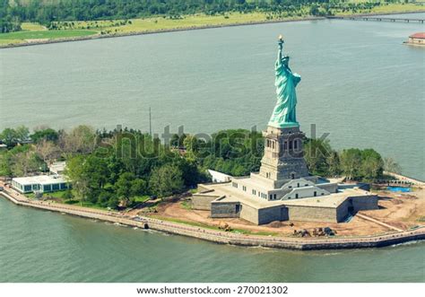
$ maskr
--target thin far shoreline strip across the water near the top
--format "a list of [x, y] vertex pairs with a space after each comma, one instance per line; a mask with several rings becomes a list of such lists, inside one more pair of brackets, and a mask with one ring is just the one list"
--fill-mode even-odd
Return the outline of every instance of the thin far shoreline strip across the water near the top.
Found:
[[[335, 15], [335, 17], [342, 18], [352, 18], [352, 17], [362, 17], [362, 16], [373, 16], [373, 15], [394, 15], [394, 14], [410, 14], [410, 13], [425, 13], [423, 11], [408, 11], [408, 12], [398, 12], [398, 13], [359, 13], [359, 14], [347, 14], [347, 15]], [[191, 26], [186, 28], [173, 28], [173, 29], [160, 29], [152, 31], [133, 31], [133, 32], [122, 32], [116, 34], [100, 35], [100, 33], [75, 37], [75, 38], [65, 38], [65, 39], [40, 39], [39, 41], [26, 41], [22, 43], [0, 45], [0, 49], [3, 48], [21, 48], [21, 47], [30, 47], [38, 46], [52, 43], [63, 43], [63, 42], [74, 42], [74, 41], [83, 41], [83, 40], [94, 40], [94, 39], [109, 39], [109, 38], [119, 38], [119, 37], [128, 37], [128, 36], [137, 36], [137, 35], [151, 35], [158, 33], [169, 33], [169, 32], [178, 32], [178, 31], [193, 31], [193, 30], [205, 30], [205, 29], [217, 29], [217, 28], [226, 28], [226, 27], [239, 27], [239, 26], [250, 26], [250, 25], [261, 25], [267, 23], [279, 23], [279, 22], [305, 22], [305, 21], [323, 21], [330, 20], [326, 16], [308, 16], [305, 18], [299, 19], [288, 19], [288, 20], [265, 20], [257, 22], [235, 22], [231, 24], [216, 24], [216, 25], [200, 25], [200, 26]]]

